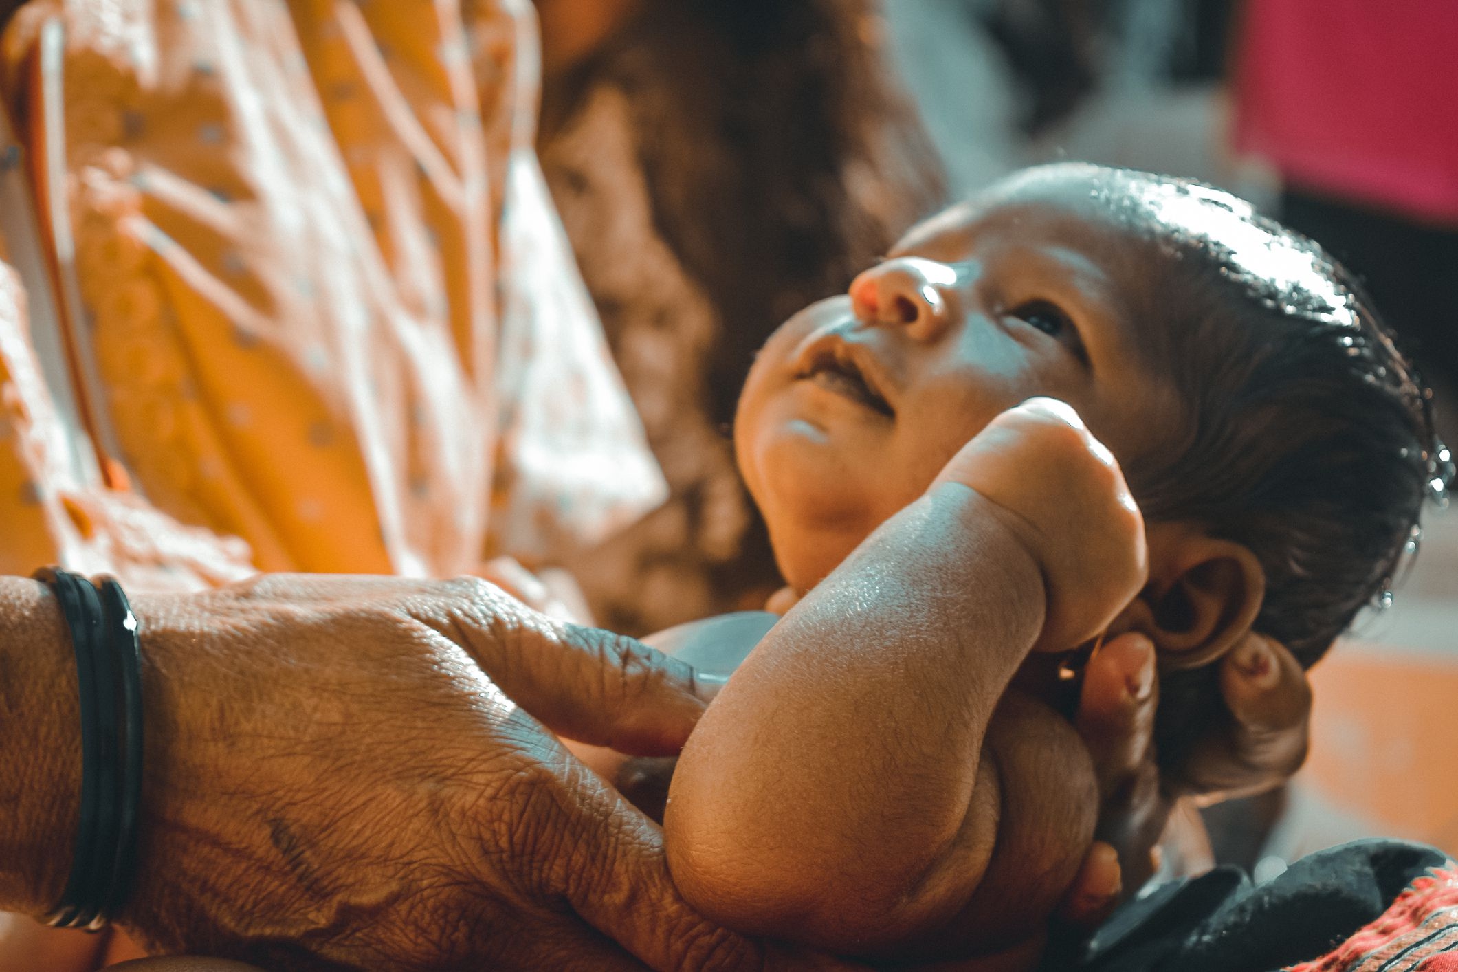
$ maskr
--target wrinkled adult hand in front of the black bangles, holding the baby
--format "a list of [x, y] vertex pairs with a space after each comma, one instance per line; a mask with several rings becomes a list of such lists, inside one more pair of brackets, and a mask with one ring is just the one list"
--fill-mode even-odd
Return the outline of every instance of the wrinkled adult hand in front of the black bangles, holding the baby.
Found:
[[147, 778], [121, 924], [153, 949], [292, 969], [840, 968], [693, 914], [659, 831], [547, 732], [677, 752], [707, 695], [688, 666], [480, 580], [278, 576], [134, 606]]

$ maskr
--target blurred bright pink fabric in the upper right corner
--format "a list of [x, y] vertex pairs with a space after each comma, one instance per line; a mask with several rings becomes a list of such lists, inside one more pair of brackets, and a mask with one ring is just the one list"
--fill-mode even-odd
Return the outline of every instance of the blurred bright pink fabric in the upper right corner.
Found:
[[1458, 0], [1250, 0], [1236, 147], [1303, 188], [1458, 223]]

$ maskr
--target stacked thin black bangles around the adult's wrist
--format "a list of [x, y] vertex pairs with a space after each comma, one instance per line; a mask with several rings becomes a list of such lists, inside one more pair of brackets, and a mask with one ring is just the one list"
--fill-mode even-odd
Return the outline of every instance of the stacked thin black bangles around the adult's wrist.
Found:
[[82, 796], [76, 855], [47, 922], [102, 928], [120, 908], [136, 863], [141, 797], [141, 653], [137, 622], [115, 580], [102, 590], [63, 570], [42, 570], [76, 651], [82, 724]]

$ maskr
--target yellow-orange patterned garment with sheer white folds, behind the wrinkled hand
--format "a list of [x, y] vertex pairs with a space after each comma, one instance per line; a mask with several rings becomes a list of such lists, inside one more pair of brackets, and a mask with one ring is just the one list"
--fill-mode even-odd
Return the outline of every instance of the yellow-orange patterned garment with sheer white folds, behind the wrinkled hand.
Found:
[[442, 576], [662, 498], [541, 189], [532, 31], [526, 0], [17, 15], [7, 95], [32, 152], [64, 118], [38, 189], [66, 194], [93, 399], [149, 501], [264, 570]]

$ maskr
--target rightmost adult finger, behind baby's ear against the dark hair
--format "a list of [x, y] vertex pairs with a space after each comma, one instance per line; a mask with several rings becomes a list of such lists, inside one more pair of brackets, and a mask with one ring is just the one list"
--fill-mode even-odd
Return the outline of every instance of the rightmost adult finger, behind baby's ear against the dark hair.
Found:
[[1258, 793], [1306, 759], [1311, 683], [1283, 644], [1250, 634], [1220, 663], [1229, 718], [1197, 740], [1169, 783], [1204, 800]]

